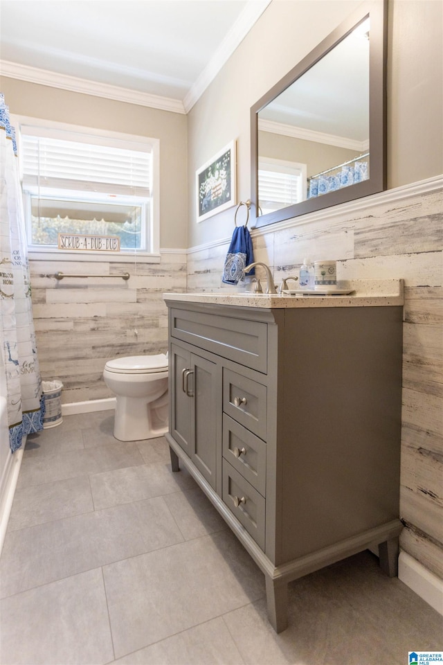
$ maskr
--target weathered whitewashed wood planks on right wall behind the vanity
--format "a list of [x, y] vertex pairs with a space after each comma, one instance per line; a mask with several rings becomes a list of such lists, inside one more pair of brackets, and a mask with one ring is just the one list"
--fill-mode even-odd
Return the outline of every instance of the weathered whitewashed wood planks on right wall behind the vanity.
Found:
[[[443, 609], [443, 179], [252, 231], [254, 258], [274, 281], [305, 256], [337, 260], [338, 279], [403, 278], [401, 549], [435, 575]], [[188, 255], [188, 291], [220, 287], [226, 242]], [[257, 269], [260, 275], [260, 269]], [[415, 589], [417, 590], [417, 589]]]

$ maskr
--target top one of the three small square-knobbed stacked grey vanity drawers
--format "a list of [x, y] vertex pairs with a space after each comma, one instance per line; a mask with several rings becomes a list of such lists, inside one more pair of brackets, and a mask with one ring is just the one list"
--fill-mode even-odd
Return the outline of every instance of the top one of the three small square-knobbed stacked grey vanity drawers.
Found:
[[223, 370], [223, 411], [266, 441], [266, 386]]

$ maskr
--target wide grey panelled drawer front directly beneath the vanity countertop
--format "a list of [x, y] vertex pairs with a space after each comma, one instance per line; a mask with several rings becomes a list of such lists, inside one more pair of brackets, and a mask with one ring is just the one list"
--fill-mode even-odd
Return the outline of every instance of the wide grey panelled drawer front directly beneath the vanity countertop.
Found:
[[266, 373], [267, 323], [170, 309], [172, 337]]

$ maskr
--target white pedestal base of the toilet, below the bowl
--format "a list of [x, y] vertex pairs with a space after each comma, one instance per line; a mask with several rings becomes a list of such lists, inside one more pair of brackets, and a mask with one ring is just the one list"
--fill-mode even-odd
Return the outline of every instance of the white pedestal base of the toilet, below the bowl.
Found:
[[168, 392], [154, 402], [146, 398], [118, 395], [114, 416], [114, 437], [118, 441], [143, 441], [168, 432]]

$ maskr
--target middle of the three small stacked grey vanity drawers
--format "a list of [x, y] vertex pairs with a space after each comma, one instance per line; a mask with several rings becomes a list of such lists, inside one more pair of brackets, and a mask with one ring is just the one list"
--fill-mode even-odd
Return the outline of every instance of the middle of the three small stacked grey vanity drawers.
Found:
[[266, 443], [226, 414], [223, 456], [263, 497], [266, 495]]

